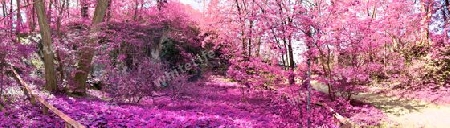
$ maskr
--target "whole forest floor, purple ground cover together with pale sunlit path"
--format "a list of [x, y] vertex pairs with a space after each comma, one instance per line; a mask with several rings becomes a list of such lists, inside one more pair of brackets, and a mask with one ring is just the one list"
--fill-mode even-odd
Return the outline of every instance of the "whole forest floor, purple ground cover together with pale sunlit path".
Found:
[[[246, 98], [243, 99], [242, 87], [223, 76], [211, 75], [183, 85], [176, 91], [162, 91], [138, 104], [111, 102], [108, 100], [111, 98], [105, 98], [105, 94], [98, 90], [89, 91], [92, 99], [56, 95], [47, 100], [80, 123], [93, 127], [297, 127], [298, 120], [292, 116], [291, 110], [274, 101], [279, 94], [250, 91], [245, 93]], [[314, 92], [322, 95], [321, 92], [326, 92], [326, 87], [320, 84], [313, 82], [313, 87], [318, 90]], [[369, 103], [369, 106], [333, 109], [363, 126], [450, 126], [447, 122], [450, 105], [446, 104], [450, 100], [443, 98], [450, 97], [445, 96], [450, 95], [448, 90], [401, 92], [385, 91], [386, 88], [370, 89], [367, 91], [370, 93], [354, 96], [354, 99]], [[428, 98], [420, 99], [424, 94]], [[327, 98], [322, 95], [313, 98]], [[333, 104], [323, 100], [320, 102]], [[64, 124], [54, 114], [42, 114], [39, 106], [29, 103], [15, 105], [11, 104], [15, 107], [9, 108], [12, 109], [10, 113], [16, 114], [0, 116], [0, 127], [62, 127]], [[320, 111], [319, 107], [314, 108]]]

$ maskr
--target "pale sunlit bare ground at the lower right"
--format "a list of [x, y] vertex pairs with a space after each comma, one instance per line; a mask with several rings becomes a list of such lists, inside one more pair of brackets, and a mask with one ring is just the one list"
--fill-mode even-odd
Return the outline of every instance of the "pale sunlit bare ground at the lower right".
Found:
[[[327, 92], [325, 85], [312, 83], [313, 88]], [[352, 99], [369, 103], [387, 118], [376, 127], [445, 128], [450, 126], [448, 90], [396, 90], [391, 87], [369, 87]], [[353, 117], [350, 117], [353, 118]]]

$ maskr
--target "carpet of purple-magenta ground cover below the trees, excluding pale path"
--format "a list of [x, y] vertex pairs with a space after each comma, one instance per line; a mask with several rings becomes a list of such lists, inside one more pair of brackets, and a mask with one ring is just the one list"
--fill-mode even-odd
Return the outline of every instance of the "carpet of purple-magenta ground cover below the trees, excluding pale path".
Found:
[[[283, 117], [283, 106], [272, 103], [270, 96], [249, 94], [243, 100], [240, 87], [223, 77], [211, 77], [176, 91], [160, 91], [140, 103], [115, 103], [98, 90], [89, 90], [89, 98], [55, 95], [46, 99], [90, 127], [296, 127], [297, 119]], [[63, 127], [54, 114], [44, 115], [39, 106], [20, 101], [24, 103], [8, 108], [14, 114], [0, 112], [0, 127]]]

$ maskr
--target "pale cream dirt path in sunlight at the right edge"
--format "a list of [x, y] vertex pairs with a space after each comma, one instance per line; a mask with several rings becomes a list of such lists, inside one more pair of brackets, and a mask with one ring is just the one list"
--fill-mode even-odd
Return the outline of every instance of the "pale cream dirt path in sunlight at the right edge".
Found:
[[[312, 82], [313, 88], [327, 92], [327, 87]], [[371, 88], [353, 99], [374, 105], [387, 115], [380, 127], [394, 128], [448, 128], [450, 127], [450, 105], [437, 105], [419, 100], [404, 99], [393, 95], [376, 94], [381, 88]]]

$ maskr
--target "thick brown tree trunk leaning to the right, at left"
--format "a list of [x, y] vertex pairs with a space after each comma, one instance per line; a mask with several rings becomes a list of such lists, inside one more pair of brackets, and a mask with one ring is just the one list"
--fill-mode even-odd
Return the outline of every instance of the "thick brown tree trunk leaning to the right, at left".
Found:
[[[106, 9], [108, 8], [109, 0], [98, 0], [97, 7], [94, 11], [94, 18], [92, 21], [92, 26], [90, 30], [90, 34], [94, 35], [97, 33], [100, 28], [98, 26], [99, 23], [103, 22], [103, 18], [105, 17]], [[78, 60], [78, 69], [75, 73], [75, 84], [77, 88], [75, 90], [76, 93], [80, 95], [86, 94], [86, 81], [88, 74], [91, 70], [91, 62], [95, 55], [94, 46], [97, 43], [97, 37], [90, 36], [91, 38], [88, 40], [87, 44], [80, 49], [81, 55], [80, 60]]]

